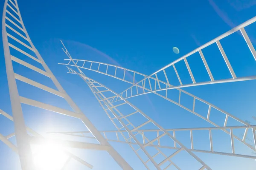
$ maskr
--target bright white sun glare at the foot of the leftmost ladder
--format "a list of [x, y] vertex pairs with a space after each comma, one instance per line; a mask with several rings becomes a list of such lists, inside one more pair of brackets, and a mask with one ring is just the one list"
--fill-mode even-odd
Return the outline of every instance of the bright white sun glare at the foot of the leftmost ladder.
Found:
[[61, 170], [68, 159], [63, 148], [51, 142], [35, 145], [33, 150], [36, 170]]

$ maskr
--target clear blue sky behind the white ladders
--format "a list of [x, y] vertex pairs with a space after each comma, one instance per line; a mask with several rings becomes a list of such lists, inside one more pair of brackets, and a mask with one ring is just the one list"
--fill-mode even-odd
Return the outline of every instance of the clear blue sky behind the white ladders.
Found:
[[[18, 3], [26, 29], [35, 47], [67, 93], [99, 130], [114, 130], [114, 127], [87, 85], [79, 77], [66, 74], [64, 66], [57, 65], [66, 58], [61, 51], [59, 40], [63, 40], [73, 58], [107, 62], [144, 74], [151, 74], [254, 17], [256, 11], [255, 0], [163, 0], [161, 2], [153, 0], [18, 0]], [[0, 8], [3, 8], [3, 2], [0, 3]], [[256, 46], [256, 23], [246, 28], [246, 31], [253, 45]], [[0, 43], [3, 46], [2, 42]], [[174, 46], [180, 49], [180, 54], [172, 52]], [[256, 62], [250, 58], [250, 53], [240, 34], [234, 34], [230, 39], [223, 40], [223, 46], [230, 62], [235, 65], [234, 70], [237, 71], [238, 76], [255, 75]], [[0, 109], [12, 114], [3, 48], [0, 48], [0, 54], [2, 54], [0, 56]], [[208, 51], [208, 54], [209, 57], [207, 58], [206, 55], [205, 57], [212, 62], [212, 65], [218, 65], [215, 53]], [[195, 61], [189, 62], [196, 64]], [[15, 71], [49, 85], [50, 82], [37, 77], [37, 74], [21, 66], [14, 66]], [[84, 71], [84, 73], [116, 92], [121, 92], [130, 86], [89, 71]], [[221, 64], [220, 69], [215, 70], [213, 74], [219, 78], [230, 76], [227, 70], [221, 70]], [[59, 102], [52, 95], [42, 91], [38, 92], [36, 88], [26, 87], [20, 82], [17, 84], [20, 87], [21, 96], [67, 108], [64, 101]], [[253, 122], [251, 117], [256, 116], [255, 85], [256, 81], [248, 81], [206, 85], [185, 90], [240, 119]], [[209, 126], [191, 113], [164, 99], [157, 98], [154, 94], [132, 98], [130, 101], [165, 128]], [[28, 106], [24, 106], [23, 111], [26, 124], [41, 133], [86, 130], [81, 122], [66, 119], [56, 113]], [[56, 120], [58, 120], [57, 123]], [[216, 121], [218, 122], [218, 117]], [[6, 122], [5, 118], [0, 117], [0, 133], [7, 135], [12, 132], [12, 122]], [[181, 136], [180, 140], [184, 141], [185, 138]], [[115, 147], [134, 169], [144, 168], [127, 146], [116, 144]], [[93, 164], [95, 170], [119, 169], [105, 152], [81, 153], [81, 151], [76, 151], [76, 153]], [[255, 160], [198, 153], [197, 155], [213, 170], [222, 170], [221, 167], [224, 167], [223, 170], [241, 170], [242, 168], [253, 170], [256, 166]], [[0, 158], [0, 169], [18, 170], [18, 165], [11, 162], [11, 160], [17, 161], [17, 156], [2, 142], [0, 142]], [[99, 164], [98, 160], [101, 160], [102, 164]], [[177, 162], [182, 164], [183, 160], [180, 159]], [[82, 168], [79, 164], [75, 165], [78, 166], [76, 170]], [[106, 165], [111, 166], [106, 167]], [[191, 169], [189, 165], [183, 166], [185, 169]]]

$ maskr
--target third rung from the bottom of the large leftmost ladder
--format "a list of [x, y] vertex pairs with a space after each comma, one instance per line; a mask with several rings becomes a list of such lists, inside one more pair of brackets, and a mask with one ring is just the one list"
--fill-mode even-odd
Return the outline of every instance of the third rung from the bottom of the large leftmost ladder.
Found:
[[20, 80], [22, 82], [26, 82], [29, 85], [35, 86], [37, 88], [40, 88], [40, 89], [42, 89], [44, 91], [47, 91], [49, 93], [55, 94], [55, 95], [60, 96], [60, 97], [64, 97], [65, 96], [65, 94], [62, 94], [59, 91], [56, 91], [56, 90], [54, 90], [52, 88], [49, 88], [46, 85], [42, 85], [42, 84], [40, 84], [38, 82], [35, 82], [35, 81], [31, 80], [31, 79], [28, 79], [28, 78], [23, 77], [23, 76], [21, 76], [19, 74], [16, 74], [16, 73], [14, 75], [15, 75], [15, 79], [18, 79], [18, 80]]

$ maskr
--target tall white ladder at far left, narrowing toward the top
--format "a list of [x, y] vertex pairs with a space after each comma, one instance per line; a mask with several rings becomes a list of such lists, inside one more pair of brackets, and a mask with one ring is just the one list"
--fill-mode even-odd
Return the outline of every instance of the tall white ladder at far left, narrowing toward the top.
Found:
[[[13, 7], [12, 7], [13, 6]], [[9, 8], [9, 10], [7, 9]], [[10, 14], [12, 19], [6, 16], [6, 13]], [[14, 15], [17, 14], [17, 17]], [[9, 26], [6, 23], [6, 20], [8, 20], [10, 23], [12, 23], [14, 26]], [[22, 27], [18, 26], [15, 22], [18, 22], [21, 24]], [[10, 33], [7, 32], [7, 29], [10, 29], [14, 31], [15, 34], [11, 35]], [[15, 135], [16, 135], [16, 140], [17, 140], [17, 148], [18, 148], [18, 153], [20, 156], [20, 163], [21, 163], [21, 168], [22, 170], [35, 170], [35, 165], [33, 164], [32, 160], [32, 152], [30, 149], [30, 144], [29, 144], [29, 138], [28, 134], [26, 131], [26, 126], [24, 123], [23, 119], [23, 112], [21, 108], [21, 103], [35, 106], [38, 108], [43, 108], [48, 111], [53, 111], [56, 113], [61, 113], [67, 116], [73, 116], [78, 119], [81, 119], [81, 121], [84, 123], [84, 125], [88, 128], [88, 130], [91, 131], [93, 136], [97, 139], [97, 141], [100, 144], [103, 145], [108, 145], [110, 147], [110, 150], [108, 150], [108, 153], [113, 157], [113, 159], [119, 164], [120, 167], [122, 167], [125, 170], [131, 170], [131, 166], [119, 155], [119, 153], [116, 152], [116, 150], [113, 149], [113, 147], [108, 143], [108, 141], [99, 133], [99, 131], [94, 127], [94, 125], [90, 122], [89, 119], [82, 113], [82, 111], [79, 109], [79, 107], [73, 102], [73, 100], [68, 96], [66, 91], [61, 87], [60, 83], [58, 80], [55, 78], [55, 76], [52, 74], [46, 63], [44, 62], [43, 58], [33, 45], [32, 41], [29, 38], [29, 35], [26, 31], [26, 28], [23, 24], [23, 20], [20, 15], [20, 10], [17, 4], [17, 0], [5, 0], [4, 8], [3, 8], [3, 20], [2, 20], [2, 36], [3, 36], [3, 47], [4, 47], [4, 56], [5, 56], [5, 62], [6, 62], [6, 73], [7, 73], [7, 79], [8, 79], [8, 85], [9, 85], [9, 93], [10, 93], [10, 98], [11, 98], [11, 104], [12, 104], [12, 113], [13, 113], [13, 119], [14, 119], [14, 124], [15, 124]], [[22, 31], [26, 36], [23, 36], [20, 34], [19, 31]], [[16, 47], [15, 45], [11, 44], [9, 42], [9, 38], [15, 40], [17, 43], [25, 46], [27, 50], [33, 51], [35, 53], [36, 57], [33, 57], [26, 51], [21, 50], [20, 48]], [[28, 42], [29, 45], [26, 45]], [[10, 53], [10, 48], [13, 48], [20, 53], [26, 55], [27, 57], [30, 57], [31, 59], [34, 59], [36, 62], [40, 63], [45, 71], [19, 59], [17, 56], [13, 56]], [[21, 65], [26, 66], [27, 68], [32, 69], [33, 71], [37, 71], [41, 73], [42, 75], [49, 77], [58, 91], [49, 88], [45, 85], [42, 85], [38, 82], [35, 82], [31, 79], [28, 79], [26, 77], [22, 77], [19, 74], [15, 73], [13, 71], [13, 66], [12, 66], [12, 61], [17, 62]], [[37, 88], [41, 88], [44, 91], [47, 91], [49, 93], [55, 94], [57, 96], [60, 96], [64, 98], [67, 103], [70, 105], [71, 108], [73, 108], [74, 112], [64, 110], [62, 108], [57, 108], [52, 105], [48, 105], [42, 102], [38, 102], [32, 99], [27, 99], [22, 96], [19, 96], [18, 94], [18, 88], [16, 84], [16, 79], [19, 79], [20, 81], [26, 82], [29, 85], [33, 85]]]

